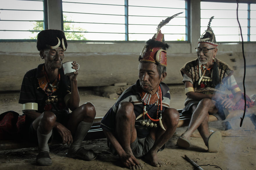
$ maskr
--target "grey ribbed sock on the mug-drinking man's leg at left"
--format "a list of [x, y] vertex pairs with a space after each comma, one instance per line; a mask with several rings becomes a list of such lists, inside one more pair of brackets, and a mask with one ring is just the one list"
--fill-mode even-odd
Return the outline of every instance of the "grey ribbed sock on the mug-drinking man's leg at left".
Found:
[[49, 132], [49, 134], [44, 135], [44, 134], [41, 134], [38, 129], [39, 128], [37, 128], [38, 153], [44, 152], [44, 151], [49, 152], [48, 140], [51, 137], [52, 130]]

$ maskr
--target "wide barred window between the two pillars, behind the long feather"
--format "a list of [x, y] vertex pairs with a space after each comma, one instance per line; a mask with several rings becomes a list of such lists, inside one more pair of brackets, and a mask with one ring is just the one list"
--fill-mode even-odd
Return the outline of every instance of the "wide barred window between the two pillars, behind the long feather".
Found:
[[185, 0], [63, 0], [63, 30], [69, 40], [146, 41], [159, 22], [184, 12], [161, 31], [166, 41], [188, 41]]

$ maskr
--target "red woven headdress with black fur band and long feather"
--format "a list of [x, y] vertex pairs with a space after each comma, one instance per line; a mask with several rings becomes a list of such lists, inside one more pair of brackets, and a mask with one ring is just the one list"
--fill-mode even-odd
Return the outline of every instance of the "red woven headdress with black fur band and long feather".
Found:
[[139, 61], [152, 62], [157, 65], [167, 66], [166, 49], [169, 47], [164, 41], [164, 34], [161, 33], [161, 28], [166, 25], [171, 19], [176, 17], [180, 12], [171, 17], [162, 20], [157, 26], [157, 33], [154, 34], [152, 39], [149, 39], [146, 45], [143, 47], [139, 56]]

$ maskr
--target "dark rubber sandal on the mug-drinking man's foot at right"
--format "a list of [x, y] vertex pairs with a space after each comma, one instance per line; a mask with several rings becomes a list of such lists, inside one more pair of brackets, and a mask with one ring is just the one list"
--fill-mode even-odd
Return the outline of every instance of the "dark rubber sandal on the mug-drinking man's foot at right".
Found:
[[69, 158], [78, 158], [81, 160], [94, 160], [97, 155], [93, 150], [87, 150], [83, 147], [79, 148], [76, 153], [66, 153], [66, 156]]

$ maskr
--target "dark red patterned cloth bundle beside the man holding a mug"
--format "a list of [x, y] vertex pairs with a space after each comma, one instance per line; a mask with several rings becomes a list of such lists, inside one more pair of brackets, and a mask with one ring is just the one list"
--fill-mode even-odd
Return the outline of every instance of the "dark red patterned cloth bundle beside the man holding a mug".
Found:
[[19, 138], [25, 125], [25, 115], [15, 111], [0, 114], [0, 140]]

